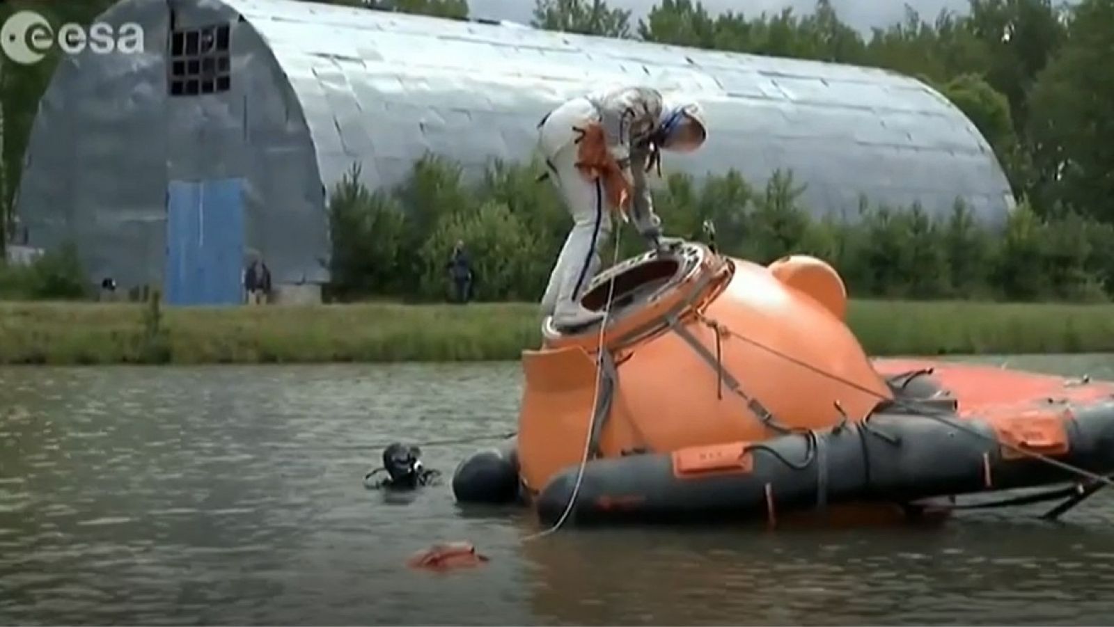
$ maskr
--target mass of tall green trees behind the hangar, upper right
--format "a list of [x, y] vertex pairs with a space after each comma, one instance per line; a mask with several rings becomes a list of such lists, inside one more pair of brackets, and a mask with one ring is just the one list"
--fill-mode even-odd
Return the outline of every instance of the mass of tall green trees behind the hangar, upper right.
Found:
[[[548, 0], [545, 0], [548, 1]], [[903, 22], [863, 38], [828, 0], [795, 16], [710, 16], [662, 0], [638, 37], [739, 52], [873, 66], [919, 78], [959, 107], [994, 146], [1015, 195], [1042, 215], [1114, 222], [1114, 0], [969, 0], [959, 16]]]

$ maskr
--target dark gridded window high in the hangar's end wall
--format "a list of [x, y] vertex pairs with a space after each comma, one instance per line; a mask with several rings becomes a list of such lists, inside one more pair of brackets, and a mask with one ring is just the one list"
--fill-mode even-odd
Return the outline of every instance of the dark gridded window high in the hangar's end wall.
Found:
[[228, 91], [232, 87], [231, 40], [228, 25], [173, 30], [167, 59], [170, 96]]

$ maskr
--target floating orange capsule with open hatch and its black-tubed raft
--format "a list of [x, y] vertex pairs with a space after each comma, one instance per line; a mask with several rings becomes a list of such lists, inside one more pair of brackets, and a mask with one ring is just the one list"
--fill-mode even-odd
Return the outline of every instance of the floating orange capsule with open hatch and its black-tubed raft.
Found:
[[[518, 434], [453, 476], [459, 502], [522, 502], [541, 522], [746, 520], [828, 508], [924, 512], [934, 499], [1114, 472], [1114, 383], [870, 360], [837, 272], [688, 243], [602, 273], [606, 327], [544, 323], [525, 351]], [[566, 512], [567, 510], [567, 512]]]

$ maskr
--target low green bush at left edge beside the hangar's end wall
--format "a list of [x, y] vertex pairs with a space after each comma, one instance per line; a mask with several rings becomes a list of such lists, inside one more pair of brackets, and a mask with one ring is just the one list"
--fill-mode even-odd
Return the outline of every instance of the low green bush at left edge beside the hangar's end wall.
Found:
[[29, 265], [0, 262], [0, 298], [77, 300], [89, 295], [77, 248], [66, 244], [49, 251]]

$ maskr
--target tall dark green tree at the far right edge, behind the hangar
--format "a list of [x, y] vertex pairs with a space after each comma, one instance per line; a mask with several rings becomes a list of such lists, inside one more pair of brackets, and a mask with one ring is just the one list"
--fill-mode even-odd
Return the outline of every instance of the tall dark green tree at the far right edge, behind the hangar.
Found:
[[1029, 97], [1036, 192], [1046, 209], [1114, 222], [1114, 0], [1083, 0], [1067, 36]]

